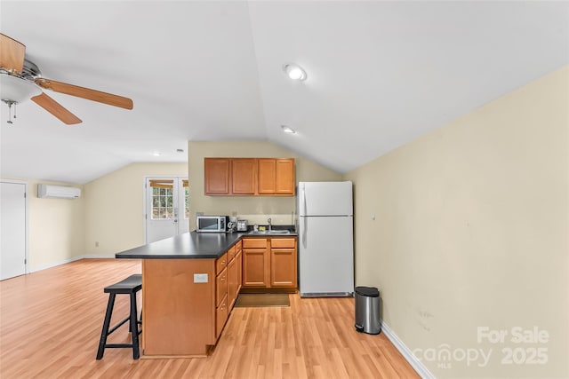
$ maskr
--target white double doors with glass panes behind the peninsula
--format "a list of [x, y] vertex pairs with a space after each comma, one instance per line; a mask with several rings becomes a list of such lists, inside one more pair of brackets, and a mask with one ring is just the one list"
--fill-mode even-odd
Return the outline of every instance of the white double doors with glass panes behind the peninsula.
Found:
[[147, 178], [146, 243], [188, 231], [188, 178]]

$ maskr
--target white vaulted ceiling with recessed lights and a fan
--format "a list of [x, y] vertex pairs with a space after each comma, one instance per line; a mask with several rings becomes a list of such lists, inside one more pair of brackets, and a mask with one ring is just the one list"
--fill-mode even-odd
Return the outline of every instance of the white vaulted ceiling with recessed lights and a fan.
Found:
[[185, 162], [188, 140], [268, 140], [345, 172], [569, 63], [568, 2], [2, 0], [0, 14], [44, 77], [134, 102], [47, 92], [76, 126], [31, 101], [9, 125], [2, 104], [0, 174], [70, 183]]

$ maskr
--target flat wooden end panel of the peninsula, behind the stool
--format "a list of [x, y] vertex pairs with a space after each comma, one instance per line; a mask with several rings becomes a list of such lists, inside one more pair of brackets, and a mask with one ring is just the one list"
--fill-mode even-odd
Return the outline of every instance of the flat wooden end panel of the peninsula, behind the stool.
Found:
[[215, 259], [143, 259], [143, 354], [205, 355], [216, 342], [214, 290]]

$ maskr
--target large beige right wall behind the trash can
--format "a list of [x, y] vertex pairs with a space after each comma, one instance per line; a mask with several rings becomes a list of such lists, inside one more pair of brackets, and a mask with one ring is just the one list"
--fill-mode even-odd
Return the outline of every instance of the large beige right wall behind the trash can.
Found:
[[[568, 129], [565, 67], [345, 176], [357, 285], [381, 289], [383, 319], [437, 377], [569, 376]], [[478, 343], [478, 327], [507, 335]], [[514, 343], [516, 327], [549, 339]], [[546, 364], [501, 363], [538, 347]], [[450, 367], [424, 357], [445, 348]]]

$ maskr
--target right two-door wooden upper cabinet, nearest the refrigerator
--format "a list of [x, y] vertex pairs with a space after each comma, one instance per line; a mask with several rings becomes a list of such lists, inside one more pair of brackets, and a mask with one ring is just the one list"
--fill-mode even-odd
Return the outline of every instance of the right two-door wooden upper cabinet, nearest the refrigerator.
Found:
[[294, 159], [259, 159], [259, 194], [294, 195]]

